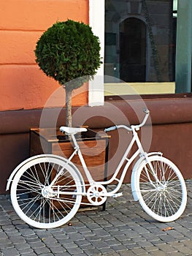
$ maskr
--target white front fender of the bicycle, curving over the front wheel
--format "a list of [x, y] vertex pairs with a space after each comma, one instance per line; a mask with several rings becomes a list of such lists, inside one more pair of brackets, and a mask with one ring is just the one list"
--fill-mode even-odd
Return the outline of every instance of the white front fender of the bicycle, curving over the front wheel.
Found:
[[131, 173], [131, 191], [132, 191], [132, 195], [134, 197], [134, 200], [135, 201], [138, 201], [139, 200], [139, 196], [138, 196], [138, 193], [137, 193], [137, 169], [139, 168], [139, 165], [142, 164], [142, 162], [144, 161], [147, 161], [146, 160], [146, 157], [150, 157], [152, 155], [158, 155], [158, 156], [162, 156], [162, 153], [161, 152], [150, 152], [150, 153], [147, 153], [145, 155], [143, 155], [142, 157], [139, 157], [139, 159], [137, 160], [137, 162], [134, 164], [134, 167], [133, 167], [133, 170], [132, 170], [132, 173]]

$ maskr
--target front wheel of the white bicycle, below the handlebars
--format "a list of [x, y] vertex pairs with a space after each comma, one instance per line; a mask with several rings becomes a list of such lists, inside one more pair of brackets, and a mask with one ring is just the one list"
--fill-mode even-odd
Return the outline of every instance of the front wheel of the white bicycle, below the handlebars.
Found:
[[187, 203], [187, 189], [180, 170], [169, 159], [148, 157], [137, 170], [137, 195], [144, 211], [159, 222], [179, 218]]

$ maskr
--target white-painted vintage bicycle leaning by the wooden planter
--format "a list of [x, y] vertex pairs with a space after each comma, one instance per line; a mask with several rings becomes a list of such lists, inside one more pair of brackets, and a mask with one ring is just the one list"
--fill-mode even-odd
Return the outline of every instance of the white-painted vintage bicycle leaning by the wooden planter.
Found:
[[[28, 225], [38, 228], [53, 228], [66, 224], [77, 213], [82, 196], [87, 197], [91, 206], [100, 206], [107, 197], [119, 197], [118, 192], [131, 162], [139, 156], [131, 173], [131, 190], [134, 200], [139, 200], [144, 211], [159, 222], [172, 222], [179, 218], [187, 203], [187, 189], [180, 170], [161, 152], [146, 153], [137, 135], [137, 131], [147, 121], [149, 110], [144, 110], [141, 124], [118, 125], [105, 129], [126, 129], [133, 138], [125, 154], [107, 181], [94, 181], [82, 157], [75, 134], [85, 132], [85, 128], [61, 127], [61, 132], [70, 135], [74, 152], [69, 159], [52, 154], [42, 154], [26, 159], [12, 172], [7, 182], [11, 184], [12, 206], [18, 216]], [[138, 149], [128, 159], [134, 143]], [[74, 154], [78, 154], [88, 178], [88, 184], [82, 178], [80, 170], [72, 163]], [[120, 178], [120, 168], [126, 162]], [[107, 192], [107, 185], [118, 181], [117, 186]]]

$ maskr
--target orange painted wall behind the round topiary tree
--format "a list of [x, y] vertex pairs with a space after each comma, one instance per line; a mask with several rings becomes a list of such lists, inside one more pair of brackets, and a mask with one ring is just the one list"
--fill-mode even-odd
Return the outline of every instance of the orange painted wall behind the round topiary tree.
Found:
[[[88, 0], [1, 0], [0, 110], [42, 108], [60, 87], [39, 70], [34, 49], [43, 31], [67, 18], [88, 23]], [[73, 105], [87, 102], [88, 92]]]

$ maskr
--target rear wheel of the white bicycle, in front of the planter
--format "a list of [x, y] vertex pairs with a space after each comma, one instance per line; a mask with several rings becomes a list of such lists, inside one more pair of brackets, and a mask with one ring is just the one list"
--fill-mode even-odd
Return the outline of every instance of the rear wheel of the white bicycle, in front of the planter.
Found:
[[[53, 179], [55, 183], [50, 187]], [[64, 195], [65, 192], [76, 194]], [[18, 216], [28, 225], [53, 228], [66, 224], [74, 217], [82, 199], [82, 195], [77, 194], [81, 192], [78, 170], [66, 165], [66, 159], [39, 155], [28, 159], [15, 174], [11, 200]]]

